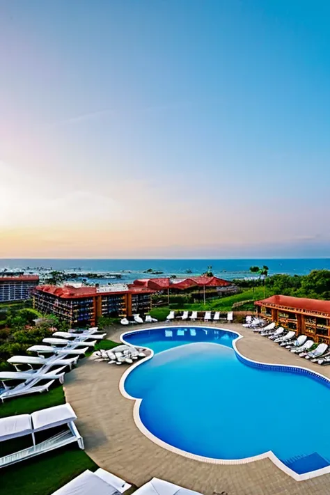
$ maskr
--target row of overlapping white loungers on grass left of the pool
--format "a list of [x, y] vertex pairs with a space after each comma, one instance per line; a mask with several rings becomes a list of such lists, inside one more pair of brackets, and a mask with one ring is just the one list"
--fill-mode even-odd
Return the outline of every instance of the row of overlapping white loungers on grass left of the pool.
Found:
[[[42, 345], [27, 349], [36, 352], [37, 356], [10, 357], [8, 363], [15, 371], [0, 372], [0, 400], [49, 391], [55, 380], [63, 383], [66, 368], [77, 364], [79, 356], [84, 356], [104, 336], [106, 333], [98, 332], [97, 327], [85, 331], [58, 331], [52, 337], [44, 338]], [[22, 370], [22, 366], [28, 369]]]

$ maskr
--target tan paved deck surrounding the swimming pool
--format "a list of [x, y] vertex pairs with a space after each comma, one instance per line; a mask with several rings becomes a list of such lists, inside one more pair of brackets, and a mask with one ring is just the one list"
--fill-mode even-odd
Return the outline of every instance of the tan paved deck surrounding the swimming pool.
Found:
[[[175, 322], [175, 326], [180, 323]], [[187, 324], [186, 324], [187, 325]], [[171, 326], [170, 324], [113, 327], [108, 338], [120, 342], [125, 331]], [[241, 324], [205, 324], [194, 322], [191, 326], [210, 326], [237, 331], [244, 338], [237, 342], [237, 349], [244, 356], [267, 363], [304, 366], [330, 378], [330, 366], [321, 367], [262, 338]], [[102, 468], [136, 486], [152, 477], [194, 489], [204, 495], [321, 495], [330, 494], [330, 474], [297, 482], [278, 469], [269, 459], [249, 464], [208, 464], [172, 453], [157, 446], [145, 437], [133, 420], [134, 400], [121, 395], [118, 384], [127, 366], [109, 366], [105, 362], [84, 360], [74, 371], [65, 375], [65, 395], [78, 416], [77, 427], [84, 437], [86, 453]], [[306, 414], [310, 407], [306, 402]], [[303, 418], [304, 411], [297, 411]], [[300, 414], [299, 414], [300, 413]], [[262, 411], [260, 411], [262, 414]], [[274, 411], [285, 418], [285, 411]], [[327, 414], [327, 411], [324, 412]], [[203, 421], [203, 418], [201, 418]], [[242, 425], [246, 428], [244, 411]], [[324, 423], [320, 424], [324, 428]], [[316, 429], [316, 426], [315, 426]]]

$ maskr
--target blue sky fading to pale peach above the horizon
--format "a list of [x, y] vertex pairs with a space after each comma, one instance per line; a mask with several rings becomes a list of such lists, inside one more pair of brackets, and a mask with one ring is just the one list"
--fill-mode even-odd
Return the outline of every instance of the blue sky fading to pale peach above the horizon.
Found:
[[0, 258], [330, 256], [328, 0], [0, 0]]

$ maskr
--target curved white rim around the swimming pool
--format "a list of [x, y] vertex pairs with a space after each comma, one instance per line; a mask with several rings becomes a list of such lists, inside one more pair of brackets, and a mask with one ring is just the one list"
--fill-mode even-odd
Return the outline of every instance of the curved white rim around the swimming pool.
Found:
[[[184, 325], [164, 325], [164, 328], [166, 329], [177, 329], [178, 327], [184, 327]], [[139, 331], [146, 331], [146, 330], [155, 330], [162, 328], [161, 326], [158, 327], [148, 327], [148, 328], [142, 328], [142, 329], [135, 329], [132, 331], [126, 331], [120, 335], [120, 340], [123, 344], [127, 345], [132, 345], [130, 343], [127, 343], [125, 341], [125, 336], [128, 335], [129, 333], [136, 333]], [[205, 329], [219, 329], [219, 330], [224, 330], [228, 331], [230, 333], [233, 333], [237, 335], [237, 338], [233, 340], [233, 349], [235, 354], [237, 355], [238, 359], [246, 364], [246, 366], [252, 366], [253, 368], [265, 368], [267, 370], [278, 370], [278, 368], [281, 368], [281, 370], [287, 370], [288, 372], [296, 372], [296, 373], [304, 373], [307, 375], [311, 375], [313, 379], [316, 379], [317, 381], [320, 381], [322, 383], [327, 382], [327, 385], [330, 388], [330, 380], [327, 377], [324, 377], [324, 375], [321, 375], [320, 373], [317, 373], [316, 371], [311, 371], [308, 370], [308, 368], [304, 368], [301, 366], [292, 366], [292, 365], [283, 365], [283, 364], [271, 364], [271, 363], [263, 363], [261, 361], [254, 361], [253, 359], [249, 359], [246, 356], [244, 356], [239, 350], [237, 349], [237, 342], [241, 338], [244, 338], [240, 333], [234, 330], [230, 329], [223, 329], [221, 327], [207, 327], [207, 325], [203, 325], [203, 328]], [[218, 344], [219, 345], [219, 344]], [[142, 347], [142, 346], [141, 346]], [[177, 447], [173, 447], [169, 443], [164, 442], [163, 440], [159, 439], [156, 437], [154, 434], [152, 434], [148, 428], [146, 428], [145, 425], [143, 425], [141, 418], [140, 418], [140, 405], [142, 402], [142, 399], [132, 397], [132, 395], [129, 395], [127, 391], [125, 390], [125, 380], [128, 377], [129, 373], [132, 372], [137, 366], [140, 366], [141, 363], [145, 363], [149, 359], [152, 359], [154, 356], [154, 352], [150, 347], [143, 346], [148, 351], [150, 352], [149, 356], [146, 356], [145, 358], [141, 359], [141, 361], [137, 361], [134, 363], [132, 366], [127, 368], [123, 375], [120, 378], [119, 382], [119, 391], [125, 397], [126, 399], [129, 400], [134, 400], [134, 408], [133, 408], [133, 418], [134, 418], [134, 423], [136, 426], [139, 428], [140, 432], [143, 433], [149, 440], [152, 442], [156, 443], [159, 447], [165, 448], [166, 450], [170, 450], [171, 452], [182, 455], [183, 457], [187, 457], [188, 459], [194, 459], [199, 462], [207, 462], [208, 464], [222, 464], [222, 465], [229, 465], [229, 464], [248, 464], [249, 462], [255, 462], [261, 459], [270, 459], [273, 464], [275, 464], [278, 469], [281, 469], [284, 473], [288, 474], [288, 476], [291, 476], [291, 478], [294, 478], [296, 481], [304, 481], [304, 480], [309, 480], [311, 478], [317, 478], [317, 476], [322, 476], [324, 474], [330, 473], [330, 465], [326, 466], [322, 469], [316, 469], [315, 471], [309, 471], [308, 473], [303, 473], [303, 474], [298, 474], [292, 469], [290, 469], [288, 466], [286, 466], [278, 457], [272, 452], [272, 450], [269, 450], [268, 452], [262, 453], [260, 455], [254, 455], [252, 457], [244, 457], [244, 459], [214, 459], [212, 457], [204, 457], [203, 455], [196, 455], [196, 454], [191, 454], [187, 452], [186, 450], [182, 450]]]

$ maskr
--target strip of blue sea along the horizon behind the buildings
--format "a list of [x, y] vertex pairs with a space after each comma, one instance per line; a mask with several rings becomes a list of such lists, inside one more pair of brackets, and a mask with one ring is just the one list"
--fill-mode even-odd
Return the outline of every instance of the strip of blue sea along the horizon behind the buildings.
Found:
[[[26, 272], [38, 272], [40, 269], [71, 270], [81, 272], [106, 272], [122, 274], [123, 281], [148, 276], [147, 269], [163, 272], [158, 276], [202, 274], [208, 266], [212, 272], [223, 278], [241, 278], [249, 276], [252, 265], [269, 267], [269, 274], [308, 274], [313, 269], [330, 269], [330, 258], [287, 259], [287, 260], [0, 260], [0, 270], [24, 269]], [[155, 275], [156, 276], [156, 275]]]

